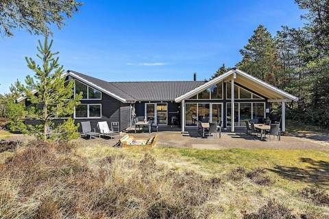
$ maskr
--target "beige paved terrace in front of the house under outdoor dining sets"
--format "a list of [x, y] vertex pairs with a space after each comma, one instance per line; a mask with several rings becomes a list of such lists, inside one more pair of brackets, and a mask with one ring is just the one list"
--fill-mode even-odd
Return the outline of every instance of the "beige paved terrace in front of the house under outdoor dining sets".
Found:
[[[232, 149], [232, 148], [245, 148], [245, 149], [312, 149], [319, 151], [329, 151], [329, 139], [326, 140], [310, 140], [308, 138], [300, 138], [293, 136], [282, 136], [281, 140], [277, 138], [266, 141], [261, 141], [260, 138], [254, 136], [247, 136], [243, 129], [236, 133], [223, 132], [221, 138], [219, 136], [210, 136], [202, 138], [197, 129], [188, 129], [189, 135], [182, 135], [177, 128], [167, 127], [160, 129], [159, 132], [149, 133], [129, 133], [136, 137], [145, 137], [149, 135], [158, 135], [156, 146], [168, 147], [188, 147], [194, 149]], [[269, 137], [269, 136], [267, 136]]]

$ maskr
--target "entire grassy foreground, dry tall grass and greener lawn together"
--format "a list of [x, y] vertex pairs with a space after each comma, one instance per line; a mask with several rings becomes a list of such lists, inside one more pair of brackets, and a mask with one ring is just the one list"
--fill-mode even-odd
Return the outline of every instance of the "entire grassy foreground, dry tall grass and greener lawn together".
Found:
[[[43, 150], [32, 144], [31, 150], [21, 146], [16, 152], [0, 153], [4, 176], [0, 177], [0, 188], [13, 188], [4, 190], [5, 194], [27, 191], [21, 194], [24, 198], [17, 196], [10, 202], [12, 207], [4, 209], [29, 206], [22, 211], [35, 216], [40, 212], [36, 200], [45, 196], [45, 205], [40, 206], [42, 212], [48, 212], [42, 213], [46, 216], [62, 214], [67, 205], [65, 212], [80, 211], [82, 218], [95, 212], [106, 218], [106, 209], [112, 209], [111, 214], [118, 218], [145, 218], [145, 214], [155, 216], [158, 212], [184, 214], [179, 218], [241, 218], [275, 199], [297, 216], [329, 218], [329, 152], [113, 148], [89, 140], [78, 140], [75, 145]], [[14, 163], [5, 164], [5, 157], [12, 157]], [[215, 187], [209, 182], [215, 182]], [[320, 198], [328, 203], [305, 198], [302, 191], [306, 187], [324, 191], [327, 196]], [[16, 193], [3, 197], [16, 197]], [[195, 211], [201, 215], [195, 216], [199, 214]]]

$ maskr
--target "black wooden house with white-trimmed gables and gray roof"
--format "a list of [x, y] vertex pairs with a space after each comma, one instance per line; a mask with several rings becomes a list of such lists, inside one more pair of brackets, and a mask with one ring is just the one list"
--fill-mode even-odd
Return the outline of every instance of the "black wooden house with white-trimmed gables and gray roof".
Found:
[[234, 131], [244, 126], [243, 120], [267, 118], [271, 102], [282, 103], [284, 131], [285, 103], [297, 101], [296, 96], [236, 68], [210, 81], [108, 82], [73, 70], [66, 77], [75, 80], [75, 93], [83, 93], [73, 115], [77, 123], [89, 120], [96, 127], [98, 121], [119, 121], [121, 131], [133, 125], [134, 116], [158, 125], [179, 125], [182, 131], [196, 127], [198, 120], [221, 121]]

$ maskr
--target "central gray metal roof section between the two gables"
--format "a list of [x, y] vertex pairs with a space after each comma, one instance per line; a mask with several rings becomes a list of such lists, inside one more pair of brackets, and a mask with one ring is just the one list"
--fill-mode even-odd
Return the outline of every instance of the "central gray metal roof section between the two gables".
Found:
[[110, 82], [138, 101], [174, 101], [186, 94], [204, 81], [126, 81]]

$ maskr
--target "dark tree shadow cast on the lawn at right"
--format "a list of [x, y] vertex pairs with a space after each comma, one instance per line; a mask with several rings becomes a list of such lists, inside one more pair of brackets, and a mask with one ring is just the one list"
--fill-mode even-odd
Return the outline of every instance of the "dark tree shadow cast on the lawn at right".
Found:
[[309, 164], [305, 168], [297, 168], [293, 166], [276, 165], [267, 170], [276, 172], [276, 174], [286, 179], [294, 181], [302, 181], [304, 183], [314, 183], [316, 185], [329, 185], [329, 162], [322, 160], [315, 161], [314, 159], [302, 157], [300, 162]]

